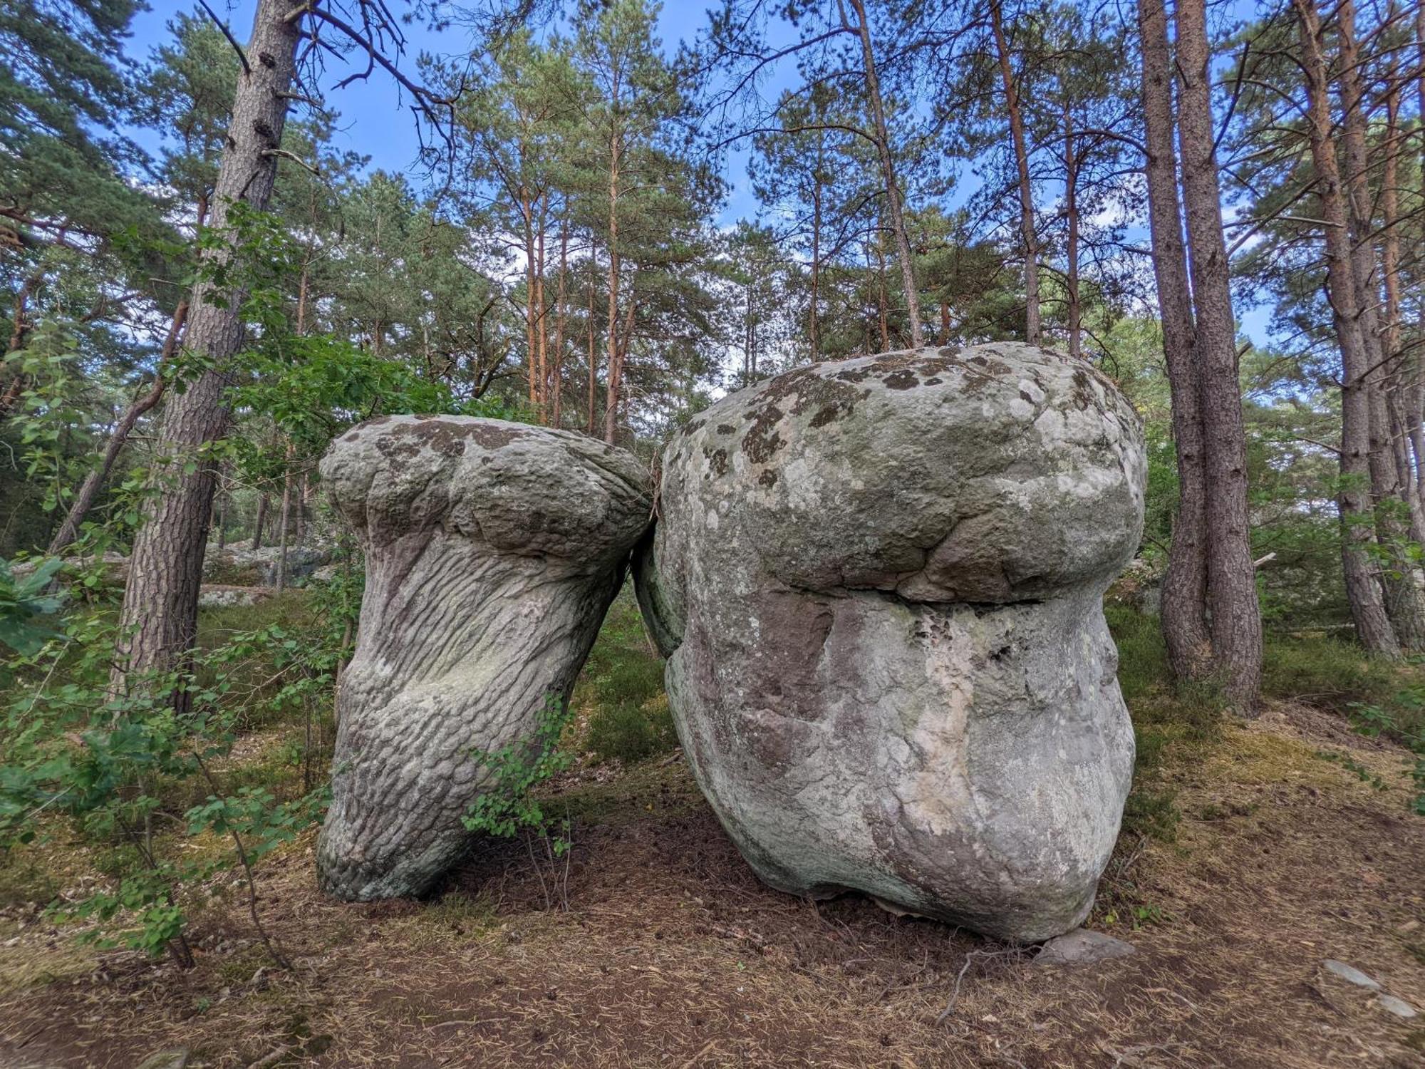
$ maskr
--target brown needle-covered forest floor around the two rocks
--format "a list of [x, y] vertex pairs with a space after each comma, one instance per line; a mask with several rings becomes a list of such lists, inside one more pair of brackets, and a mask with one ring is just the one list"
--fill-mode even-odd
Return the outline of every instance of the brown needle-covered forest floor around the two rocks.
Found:
[[[630, 611], [606, 631], [631, 649]], [[77, 946], [0, 898], [0, 1066], [128, 1069], [165, 1050], [214, 1068], [1425, 1065], [1425, 1013], [1392, 1016], [1322, 964], [1425, 1003], [1408, 754], [1330, 703], [1281, 697], [1300, 659], [1273, 670], [1258, 720], [1184, 713], [1159, 661], [1133, 660], [1151, 629], [1129, 624], [1143, 761], [1089, 922], [1129, 958], [1036, 965], [856, 895], [771, 891], [664, 750], [569, 777], [567, 909], [547, 908], [566, 877], [510, 844], [429, 901], [335, 902], [312, 834], [258, 874], [291, 971], [255, 941], [241, 887], [194, 919], [190, 971]]]

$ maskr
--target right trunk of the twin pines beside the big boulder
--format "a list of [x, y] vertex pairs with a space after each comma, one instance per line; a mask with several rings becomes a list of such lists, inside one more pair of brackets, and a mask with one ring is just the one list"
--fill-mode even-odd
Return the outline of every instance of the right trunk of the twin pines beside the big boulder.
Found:
[[1227, 696], [1248, 711], [1261, 688], [1261, 610], [1251, 557], [1247, 433], [1223, 239], [1206, 19], [1206, 0], [1178, 0], [1178, 140], [1207, 480], [1207, 614], [1214, 668]]

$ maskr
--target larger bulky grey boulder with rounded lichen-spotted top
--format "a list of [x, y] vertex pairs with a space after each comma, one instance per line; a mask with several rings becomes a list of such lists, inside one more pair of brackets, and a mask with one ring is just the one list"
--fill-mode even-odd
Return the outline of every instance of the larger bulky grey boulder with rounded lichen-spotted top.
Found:
[[1133, 768], [1102, 596], [1144, 473], [1113, 383], [1019, 344], [808, 365], [668, 443], [638, 596], [764, 881], [1022, 941], [1089, 914]]

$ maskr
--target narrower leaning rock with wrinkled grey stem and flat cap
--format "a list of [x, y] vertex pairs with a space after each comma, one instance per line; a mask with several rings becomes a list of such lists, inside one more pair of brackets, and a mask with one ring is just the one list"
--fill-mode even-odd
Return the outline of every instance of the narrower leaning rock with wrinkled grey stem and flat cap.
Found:
[[648, 473], [564, 430], [388, 416], [335, 442], [322, 480], [366, 593], [318, 871], [342, 898], [420, 894], [469, 838], [487, 785], [472, 751], [567, 700], [648, 526]]

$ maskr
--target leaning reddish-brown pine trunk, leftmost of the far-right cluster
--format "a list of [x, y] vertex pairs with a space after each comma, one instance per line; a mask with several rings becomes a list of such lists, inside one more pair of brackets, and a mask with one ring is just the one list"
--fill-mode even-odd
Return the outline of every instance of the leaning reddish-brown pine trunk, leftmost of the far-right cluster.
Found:
[[1371, 401], [1365, 389], [1369, 356], [1361, 336], [1357, 288], [1351, 267], [1351, 235], [1332, 138], [1330, 83], [1315, 0], [1291, 0], [1297, 10], [1301, 71], [1305, 80], [1311, 161], [1325, 229], [1327, 296], [1341, 348], [1341, 559], [1347, 599], [1361, 644], [1374, 653], [1399, 656], [1395, 629], [1385, 613], [1372, 562], [1369, 509]]

